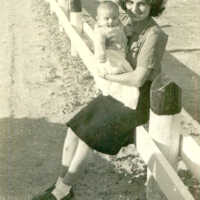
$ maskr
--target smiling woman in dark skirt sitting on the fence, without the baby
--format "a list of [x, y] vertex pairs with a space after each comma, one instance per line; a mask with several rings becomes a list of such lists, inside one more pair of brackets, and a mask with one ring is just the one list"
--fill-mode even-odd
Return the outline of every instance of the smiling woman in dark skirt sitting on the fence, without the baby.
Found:
[[[121, 21], [128, 37], [127, 60], [133, 71], [106, 75], [107, 81], [139, 88], [137, 109], [130, 109], [111, 96], [100, 95], [67, 122], [62, 170], [53, 187], [34, 200], [67, 200], [72, 197], [76, 172], [90, 149], [114, 155], [134, 142], [138, 125], [148, 121], [149, 91], [161, 71], [167, 35], [152, 17], [164, 10], [164, 0], [119, 0]], [[130, 94], [131, 95], [131, 94]]]

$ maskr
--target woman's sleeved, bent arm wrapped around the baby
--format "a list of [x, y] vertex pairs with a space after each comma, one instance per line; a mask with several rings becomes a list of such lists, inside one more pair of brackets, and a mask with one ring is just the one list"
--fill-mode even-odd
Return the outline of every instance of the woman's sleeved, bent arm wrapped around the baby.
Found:
[[106, 75], [105, 78], [124, 85], [141, 87], [151, 71], [160, 67], [166, 43], [167, 35], [157, 28], [152, 29], [140, 49], [136, 69], [124, 74]]

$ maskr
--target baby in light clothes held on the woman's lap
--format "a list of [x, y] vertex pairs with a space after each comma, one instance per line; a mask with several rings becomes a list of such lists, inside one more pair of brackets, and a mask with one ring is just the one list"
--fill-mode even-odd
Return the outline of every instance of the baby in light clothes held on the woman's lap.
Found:
[[[119, 7], [112, 1], [100, 2], [94, 29], [94, 48], [97, 59], [95, 81], [103, 95], [111, 95], [125, 106], [136, 109], [139, 89], [106, 80], [108, 74], [133, 71], [126, 60], [127, 38], [119, 20]], [[134, 77], [133, 77], [134, 78]]]

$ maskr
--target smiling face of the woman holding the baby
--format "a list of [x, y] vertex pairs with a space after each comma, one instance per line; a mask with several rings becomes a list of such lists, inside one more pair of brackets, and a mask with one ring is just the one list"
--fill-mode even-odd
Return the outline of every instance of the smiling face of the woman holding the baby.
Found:
[[149, 17], [151, 6], [146, 0], [127, 0], [126, 9], [133, 21], [142, 21]]

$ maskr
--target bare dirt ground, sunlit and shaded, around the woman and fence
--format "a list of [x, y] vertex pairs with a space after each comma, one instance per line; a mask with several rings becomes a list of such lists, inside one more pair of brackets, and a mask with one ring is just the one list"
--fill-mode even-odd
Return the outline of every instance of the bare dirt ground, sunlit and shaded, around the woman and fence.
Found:
[[[181, 6], [187, 8], [188, 1]], [[180, 12], [174, 2], [180, 0], [169, 6]], [[190, 9], [198, 15], [198, 1], [190, 2], [196, 5]], [[162, 23], [174, 15], [166, 13]], [[173, 23], [181, 30], [184, 20], [175, 16]], [[191, 15], [185, 16], [190, 20]], [[190, 23], [194, 27], [190, 36], [197, 38], [199, 18], [195, 19]], [[43, 0], [3, 0], [0, 20], [0, 200], [29, 200], [56, 180], [64, 123], [97, 91], [81, 60], [71, 57], [69, 40], [59, 32], [56, 17], [50, 15]], [[175, 35], [175, 30], [170, 33]], [[169, 50], [173, 50], [173, 40]], [[199, 48], [192, 46], [196, 43], [189, 44], [192, 49]], [[195, 59], [198, 55], [199, 51], [194, 51]], [[93, 152], [85, 165], [75, 185], [75, 199], [145, 199], [146, 166], [134, 145], [117, 156]], [[180, 176], [199, 200], [196, 180], [188, 171], [182, 170]]]

